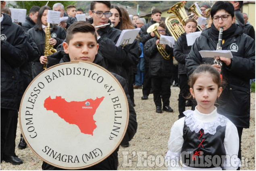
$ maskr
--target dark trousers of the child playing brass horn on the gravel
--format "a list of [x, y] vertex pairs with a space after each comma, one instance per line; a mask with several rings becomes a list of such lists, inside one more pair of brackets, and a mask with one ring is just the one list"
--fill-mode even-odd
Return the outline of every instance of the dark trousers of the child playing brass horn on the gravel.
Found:
[[[171, 97], [171, 78], [162, 77], [162, 78], [151, 78], [154, 102], [156, 106], [169, 106], [170, 97]], [[161, 102], [162, 96], [162, 102]]]

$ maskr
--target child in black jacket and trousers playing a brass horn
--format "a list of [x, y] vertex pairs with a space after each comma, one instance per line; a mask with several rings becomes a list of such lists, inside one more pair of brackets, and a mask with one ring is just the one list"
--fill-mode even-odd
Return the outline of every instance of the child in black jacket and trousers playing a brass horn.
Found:
[[[164, 22], [160, 21], [157, 28], [161, 35], [165, 35], [165, 25]], [[157, 49], [157, 45], [160, 39], [154, 37], [149, 39], [144, 46], [144, 53], [146, 56], [150, 57], [149, 64], [149, 76], [152, 79], [154, 102], [156, 105], [156, 112], [162, 113], [162, 110], [167, 112], [173, 112], [170, 107], [170, 97], [171, 97], [171, 76], [173, 67], [173, 48], [169, 45], [163, 45], [165, 51], [171, 56], [171, 60], [166, 60], [160, 54]], [[161, 97], [163, 101], [163, 108], [161, 103]], [[161, 109], [162, 108], [162, 109]]]

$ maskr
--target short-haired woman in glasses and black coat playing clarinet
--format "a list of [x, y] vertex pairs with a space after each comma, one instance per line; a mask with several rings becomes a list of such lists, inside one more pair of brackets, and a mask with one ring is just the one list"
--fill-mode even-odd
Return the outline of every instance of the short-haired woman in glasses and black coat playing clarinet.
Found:
[[[185, 59], [186, 71], [190, 75], [196, 66], [212, 64], [221, 71], [227, 85], [217, 103], [217, 112], [225, 115], [235, 124], [239, 134], [239, 153], [241, 159], [241, 135], [243, 128], [250, 125], [250, 79], [255, 77], [255, 41], [243, 34], [242, 28], [235, 24], [234, 7], [230, 2], [218, 1], [211, 9], [212, 25], [202, 32]], [[220, 57], [222, 67], [213, 64], [213, 58], [202, 58], [200, 50], [216, 50], [219, 30], [223, 27], [222, 50], [230, 50], [233, 58]]]

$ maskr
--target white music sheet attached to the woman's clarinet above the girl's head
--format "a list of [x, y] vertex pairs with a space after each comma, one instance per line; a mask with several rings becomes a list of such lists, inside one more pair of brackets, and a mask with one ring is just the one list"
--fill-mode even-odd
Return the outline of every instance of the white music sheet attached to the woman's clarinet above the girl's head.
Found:
[[224, 58], [233, 58], [233, 55], [230, 50], [200, 50], [202, 58], [214, 58], [215, 56], [221, 56]]

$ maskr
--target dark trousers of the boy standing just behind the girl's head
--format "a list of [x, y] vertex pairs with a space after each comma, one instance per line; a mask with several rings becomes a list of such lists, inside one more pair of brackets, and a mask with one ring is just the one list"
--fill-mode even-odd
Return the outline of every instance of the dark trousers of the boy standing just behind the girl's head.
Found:
[[188, 77], [187, 74], [180, 74], [179, 75], [179, 118], [184, 117], [185, 115], [183, 112], [185, 111], [186, 107], [186, 100], [184, 97], [189, 95], [189, 85], [187, 84]]

